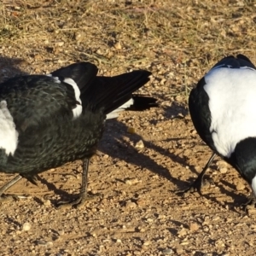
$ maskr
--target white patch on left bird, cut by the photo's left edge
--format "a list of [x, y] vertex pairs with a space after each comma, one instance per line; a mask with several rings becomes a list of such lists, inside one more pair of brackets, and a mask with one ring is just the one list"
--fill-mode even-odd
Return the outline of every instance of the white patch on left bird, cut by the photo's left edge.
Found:
[[15, 154], [18, 145], [19, 133], [15, 129], [15, 122], [9, 109], [7, 102], [0, 102], [0, 148], [5, 149], [6, 154]]

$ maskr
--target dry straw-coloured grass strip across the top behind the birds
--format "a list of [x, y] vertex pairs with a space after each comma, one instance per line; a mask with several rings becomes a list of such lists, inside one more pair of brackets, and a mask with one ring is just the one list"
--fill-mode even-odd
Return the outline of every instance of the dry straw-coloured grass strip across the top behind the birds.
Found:
[[108, 75], [147, 68], [175, 96], [224, 55], [256, 60], [253, 1], [2, 2], [0, 53], [26, 61], [27, 73], [73, 61]]

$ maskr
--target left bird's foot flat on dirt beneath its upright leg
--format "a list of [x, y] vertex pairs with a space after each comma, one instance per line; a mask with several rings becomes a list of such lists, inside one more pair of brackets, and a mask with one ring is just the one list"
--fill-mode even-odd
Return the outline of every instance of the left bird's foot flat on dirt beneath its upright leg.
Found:
[[77, 198], [75, 198], [72, 201], [59, 201], [55, 207], [57, 209], [67, 208], [67, 207], [79, 208], [79, 207], [82, 207], [86, 201], [96, 201], [96, 198], [98, 196], [99, 194], [79, 195]]

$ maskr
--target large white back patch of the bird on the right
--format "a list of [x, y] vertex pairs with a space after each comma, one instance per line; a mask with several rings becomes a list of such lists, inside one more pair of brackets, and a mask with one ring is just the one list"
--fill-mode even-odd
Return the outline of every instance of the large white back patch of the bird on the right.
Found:
[[256, 137], [256, 71], [246, 67], [214, 68], [205, 81], [212, 140], [220, 154], [230, 157], [237, 143]]

